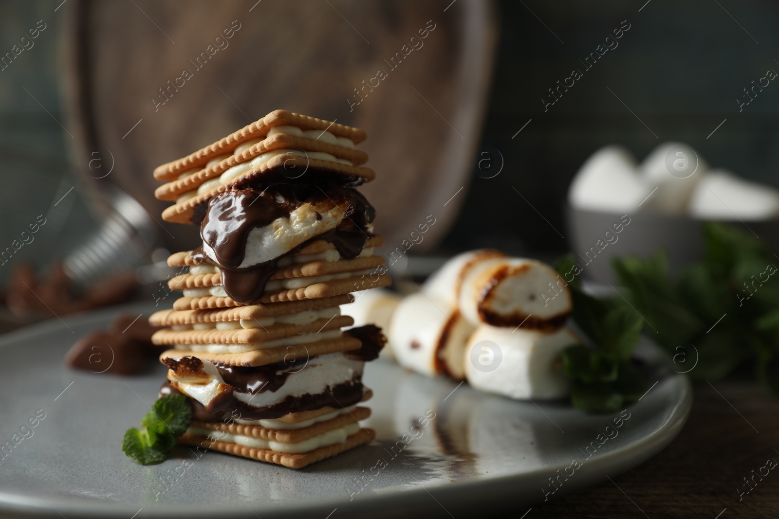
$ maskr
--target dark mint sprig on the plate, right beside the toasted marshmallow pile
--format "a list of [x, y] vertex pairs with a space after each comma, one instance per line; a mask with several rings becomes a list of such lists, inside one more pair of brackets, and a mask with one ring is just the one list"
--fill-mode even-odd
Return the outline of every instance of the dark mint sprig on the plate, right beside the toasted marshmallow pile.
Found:
[[[555, 267], [573, 272], [572, 255]], [[571, 383], [571, 404], [585, 412], [614, 412], [641, 397], [646, 387], [631, 360], [643, 319], [618, 298], [598, 299], [584, 293], [579, 279], [568, 280], [573, 320], [589, 345], [571, 345], [562, 352], [562, 370]]]

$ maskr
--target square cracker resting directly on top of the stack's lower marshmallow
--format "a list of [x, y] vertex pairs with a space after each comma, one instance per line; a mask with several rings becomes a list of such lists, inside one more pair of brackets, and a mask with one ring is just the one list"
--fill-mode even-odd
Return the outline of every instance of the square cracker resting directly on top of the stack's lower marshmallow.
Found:
[[256, 349], [242, 353], [210, 353], [191, 352], [184, 349], [168, 349], [160, 354], [161, 359], [167, 357], [197, 357], [210, 362], [220, 362], [231, 366], [266, 366], [291, 359], [308, 359], [309, 357], [326, 355], [327, 353], [351, 352], [360, 349], [362, 342], [351, 335], [341, 335], [323, 341], [308, 344], [279, 346], [278, 348]]

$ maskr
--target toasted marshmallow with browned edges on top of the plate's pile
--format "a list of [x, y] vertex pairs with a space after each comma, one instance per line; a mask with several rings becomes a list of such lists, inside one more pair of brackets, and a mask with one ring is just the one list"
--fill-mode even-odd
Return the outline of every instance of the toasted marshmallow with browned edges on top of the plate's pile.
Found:
[[571, 313], [568, 286], [541, 261], [495, 258], [481, 261], [465, 276], [460, 312], [471, 324], [552, 331]]

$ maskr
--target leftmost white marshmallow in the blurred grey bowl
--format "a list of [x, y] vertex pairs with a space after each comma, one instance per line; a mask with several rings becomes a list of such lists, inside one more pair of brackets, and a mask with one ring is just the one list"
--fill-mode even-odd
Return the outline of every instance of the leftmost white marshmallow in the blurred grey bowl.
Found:
[[605, 146], [583, 164], [568, 191], [577, 209], [626, 212], [638, 209], [651, 188], [638, 175], [636, 160], [622, 146]]

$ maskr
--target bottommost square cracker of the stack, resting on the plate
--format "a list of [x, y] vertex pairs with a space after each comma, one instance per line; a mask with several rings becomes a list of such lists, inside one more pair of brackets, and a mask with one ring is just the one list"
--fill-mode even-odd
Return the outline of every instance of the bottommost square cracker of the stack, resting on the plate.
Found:
[[234, 454], [243, 458], [250, 458], [257, 461], [267, 461], [268, 463], [275, 463], [277, 465], [284, 465], [289, 468], [303, 468], [306, 465], [311, 465], [317, 461], [322, 461], [326, 458], [333, 458], [337, 454], [344, 451], [354, 449], [362, 444], [367, 444], [369, 441], [376, 437], [375, 430], [361, 429], [357, 433], [348, 437], [342, 444], [328, 445], [327, 447], [319, 447], [315, 451], [305, 452], [302, 454], [284, 454], [282, 452], [270, 451], [268, 449], [256, 449], [254, 447], [244, 447], [238, 444], [230, 444], [224, 441], [209, 440], [208, 438], [195, 436], [189, 433], [184, 433], [181, 437], [178, 437], [178, 443], [184, 445], [192, 445], [193, 447], [203, 447], [211, 449], [212, 451], [220, 451], [226, 454]]

